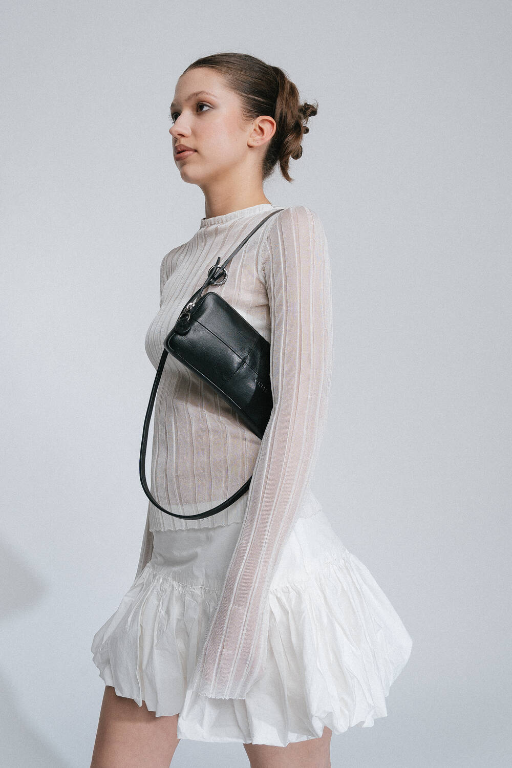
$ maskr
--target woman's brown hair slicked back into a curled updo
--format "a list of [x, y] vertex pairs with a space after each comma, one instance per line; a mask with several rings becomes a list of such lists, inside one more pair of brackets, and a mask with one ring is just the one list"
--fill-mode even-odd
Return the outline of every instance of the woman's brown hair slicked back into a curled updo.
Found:
[[193, 61], [183, 74], [197, 67], [209, 67], [223, 74], [227, 86], [239, 94], [244, 121], [256, 120], [263, 114], [276, 121], [276, 133], [263, 158], [263, 179], [272, 174], [279, 162], [286, 181], [292, 181], [288, 173], [289, 158], [302, 157], [302, 136], [309, 132], [306, 123], [317, 113], [318, 103], [304, 101], [301, 104], [296, 85], [282, 69], [248, 54], [203, 56]]

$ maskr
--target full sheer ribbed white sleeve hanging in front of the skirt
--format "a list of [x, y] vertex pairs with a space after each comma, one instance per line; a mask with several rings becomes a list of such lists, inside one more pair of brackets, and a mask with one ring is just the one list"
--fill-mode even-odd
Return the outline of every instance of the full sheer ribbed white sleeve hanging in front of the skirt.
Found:
[[269, 297], [273, 409], [239, 540], [190, 688], [243, 698], [265, 670], [269, 586], [298, 518], [325, 429], [332, 373], [332, 287], [325, 231], [294, 206], [259, 252]]

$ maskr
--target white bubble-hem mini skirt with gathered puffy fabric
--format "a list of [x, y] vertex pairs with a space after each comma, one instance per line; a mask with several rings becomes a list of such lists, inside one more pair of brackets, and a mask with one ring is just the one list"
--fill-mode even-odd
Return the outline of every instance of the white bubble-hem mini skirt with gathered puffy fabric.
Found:
[[[245, 699], [187, 690], [242, 523], [155, 531], [154, 551], [91, 651], [105, 684], [139, 707], [179, 713], [177, 737], [286, 746], [371, 727], [412, 641], [321, 505], [299, 518], [269, 591], [266, 669]], [[308, 502], [312, 503], [312, 502]]]

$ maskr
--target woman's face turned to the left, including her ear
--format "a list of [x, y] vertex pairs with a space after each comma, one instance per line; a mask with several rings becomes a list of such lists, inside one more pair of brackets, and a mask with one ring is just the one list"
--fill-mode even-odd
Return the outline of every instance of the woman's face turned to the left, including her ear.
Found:
[[[192, 95], [198, 91], [201, 93]], [[262, 139], [274, 133], [268, 123], [273, 122], [272, 118], [257, 118], [244, 124], [238, 94], [226, 87], [222, 75], [206, 67], [182, 74], [174, 91], [170, 117], [174, 162], [184, 181], [200, 187], [243, 177], [260, 168], [266, 143]], [[186, 144], [194, 151], [180, 159], [180, 154], [176, 154], [178, 144]], [[261, 151], [255, 147], [261, 147]]]

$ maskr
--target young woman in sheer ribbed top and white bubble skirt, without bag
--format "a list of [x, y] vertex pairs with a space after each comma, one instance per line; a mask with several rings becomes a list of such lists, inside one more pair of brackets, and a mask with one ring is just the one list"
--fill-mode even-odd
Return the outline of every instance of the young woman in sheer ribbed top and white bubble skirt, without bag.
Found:
[[[273, 410], [259, 440], [168, 356], [155, 402], [151, 491], [134, 583], [91, 650], [106, 687], [91, 768], [167, 766], [181, 738], [243, 743], [251, 766], [329, 766], [332, 732], [370, 727], [411, 637], [335, 535], [310, 481], [328, 408], [332, 293], [322, 223], [267, 200], [302, 155], [315, 107], [277, 67], [194, 61], [170, 108], [174, 158], [206, 216], [164, 257], [147, 331], [157, 367], [180, 310], [217, 257], [219, 293], [270, 342]], [[183, 151], [183, 154], [178, 154]], [[249, 490], [214, 515], [187, 520]]]

